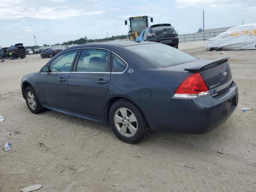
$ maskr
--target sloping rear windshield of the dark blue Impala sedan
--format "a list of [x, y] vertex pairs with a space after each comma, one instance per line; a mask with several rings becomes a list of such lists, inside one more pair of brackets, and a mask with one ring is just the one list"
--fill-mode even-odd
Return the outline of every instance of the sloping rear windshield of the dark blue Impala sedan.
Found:
[[198, 60], [198, 58], [190, 54], [160, 43], [127, 46], [126, 48], [152, 60], [160, 67], [174, 66]]

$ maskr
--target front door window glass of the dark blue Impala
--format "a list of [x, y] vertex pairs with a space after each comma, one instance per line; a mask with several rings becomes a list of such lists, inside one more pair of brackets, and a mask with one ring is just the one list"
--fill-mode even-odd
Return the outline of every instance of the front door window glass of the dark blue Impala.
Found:
[[58, 56], [51, 62], [50, 72], [70, 72], [72, 62], [77, 52], [78, 50], [68, 51]]

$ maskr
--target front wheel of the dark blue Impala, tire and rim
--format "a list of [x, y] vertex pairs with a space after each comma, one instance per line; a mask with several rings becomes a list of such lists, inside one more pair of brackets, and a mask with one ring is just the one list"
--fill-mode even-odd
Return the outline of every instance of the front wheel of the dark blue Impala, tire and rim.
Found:
[[39, 114], [43, 112], [45, 109], [41, 106], [36, 93], [32, 86], [28, 86], [25, 90], [25, 98], [26, 98], [26, 103], [29, 108], [29, 110], [34, 113], [34, 114]]

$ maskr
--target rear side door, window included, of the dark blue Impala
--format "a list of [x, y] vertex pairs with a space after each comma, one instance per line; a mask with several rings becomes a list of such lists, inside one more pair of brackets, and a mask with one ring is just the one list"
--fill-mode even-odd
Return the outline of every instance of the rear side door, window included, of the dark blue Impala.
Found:
[[75, 112], [100, 117], [110, 83], [110, 52], [83, 49], [70, 74], [68, 92]]

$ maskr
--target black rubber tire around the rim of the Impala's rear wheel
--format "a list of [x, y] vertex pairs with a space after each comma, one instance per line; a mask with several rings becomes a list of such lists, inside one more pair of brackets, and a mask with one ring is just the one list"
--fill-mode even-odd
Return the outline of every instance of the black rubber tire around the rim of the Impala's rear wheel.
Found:
[[[120, 108], [127, 108], [136, 116], [137, 123], [138, 123], [137, 132], [132, 137], [123, 136], [116, 128], [116, 125], [114, 122], [114, 116], [116, 111]], [[135, 144], [139, 142], [143, 138], [146, 138], [150, 132], [150, 128], [148, 126], [146, 118], [142, 113], [142, 111], [140, 110], [140, 108], [138, 108], [138, 106], [136, 106], [135, 104], [133, 104], [132, 102], [126, 99], [118, 100], [111, 106], [110, 112], [109, 112], [109, 122], [114, 134], [116, 134], [116, 136], [120, 140], [129, 144]]]

